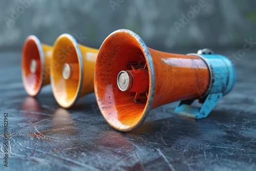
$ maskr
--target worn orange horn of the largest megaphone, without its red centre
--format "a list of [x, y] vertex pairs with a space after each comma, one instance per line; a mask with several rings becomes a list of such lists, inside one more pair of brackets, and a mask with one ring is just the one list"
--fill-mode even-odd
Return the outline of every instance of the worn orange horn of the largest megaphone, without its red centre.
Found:
[[[122, 92], [117, 85], [120, 71], [129, 63], [146, 65], [150, 78], [147, 93]], [[201, 97], [209, 86], [210, 73], [197, 55], [180, 55], [147, 48], [130, 30], [110, 34], [99, 49], [94, 88], [99, 109], [108, 123], [119, 131], [132, 131], [143, 123], [148, 113], [160, 105]]]

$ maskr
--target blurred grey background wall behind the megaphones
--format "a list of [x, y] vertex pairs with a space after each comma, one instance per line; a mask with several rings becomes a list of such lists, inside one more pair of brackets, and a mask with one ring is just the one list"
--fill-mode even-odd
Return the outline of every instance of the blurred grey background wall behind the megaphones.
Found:
[[[201, 7], [193, 12], [191, 6]], [[1, 1], [0, 26], [1, 50], [22, 49], [30, 34], [52, 45], [62, 33], [81, 34], [87, 37], [83, 45], [99, 48], [121, 28], [139, 34], [148, 47], [168, 52], [243, 48], [245, 39], [256, 41], [256, 1]]]

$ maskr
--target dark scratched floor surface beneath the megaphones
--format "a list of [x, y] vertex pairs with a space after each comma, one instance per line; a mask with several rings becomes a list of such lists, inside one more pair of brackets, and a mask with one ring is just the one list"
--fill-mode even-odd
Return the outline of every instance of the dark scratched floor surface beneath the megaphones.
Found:
[[[230, 55], [234, 51], [223, 51]], [[185, 52], [181, 52], [185, 53]], [[0, 170], [256, 170], [255, 51], [237, 62], [238, 82], [206, 119], [174, 113], [176, 102], [121, 133], [101, 116], [94, 94], [64, 110], [50, 86], [34, 99], [20, 76], [20, 53], [0, 53]], [[9, 160], [3, 164], [4, 113]]]

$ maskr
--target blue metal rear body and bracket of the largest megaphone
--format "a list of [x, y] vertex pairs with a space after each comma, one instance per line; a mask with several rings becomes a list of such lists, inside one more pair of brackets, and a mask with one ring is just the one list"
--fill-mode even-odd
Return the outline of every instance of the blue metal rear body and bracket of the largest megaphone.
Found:
[[237, 81], [236, 67], [231, 60], [223, 55], [214, 54], [208, 49], [201, 52], [205, 51], [210, 53], [188, 54], [201, 57], [207, 63], [210, 71], [209, 88], [199, 99], [202, 106], [199, 108], [191, 105], [194, 100], [182, 100], [175, 109], [175, 113], [179, 115], [195, 119], [207, 117], [218, 101], [232, 90]]

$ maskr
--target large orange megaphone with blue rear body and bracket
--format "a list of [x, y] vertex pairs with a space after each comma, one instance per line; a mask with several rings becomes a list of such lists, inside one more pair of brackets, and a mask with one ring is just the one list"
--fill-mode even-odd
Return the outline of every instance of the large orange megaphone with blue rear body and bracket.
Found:
[[[206, 117], [236, 78], [236, 69], [225, 56], [210, 50], [187, 55], [156, 51], [124, 29], [101, 45], [94, 89], [106, 121], [127, 132], [142, 124], [152, 109], [173, 101], [181, 100], [175, 110], [179, 115]], [[195, 99], [203, 103], [201, 108], [191, 105]]]

